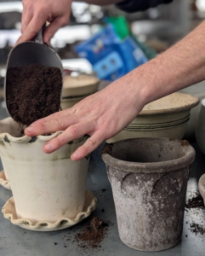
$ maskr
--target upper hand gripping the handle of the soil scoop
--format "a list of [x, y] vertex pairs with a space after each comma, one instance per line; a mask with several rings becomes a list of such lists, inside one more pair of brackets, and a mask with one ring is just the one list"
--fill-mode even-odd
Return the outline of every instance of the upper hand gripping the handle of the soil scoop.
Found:
[[48, 44], [54, 33], [68, 23], [71, 14], [72, 0], [22, 0], [23, 13], [21, 33], [16, 44], [34, 38], [46, 21], [50, 24], [43, 33], [43, 41]]

